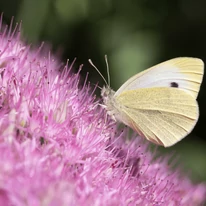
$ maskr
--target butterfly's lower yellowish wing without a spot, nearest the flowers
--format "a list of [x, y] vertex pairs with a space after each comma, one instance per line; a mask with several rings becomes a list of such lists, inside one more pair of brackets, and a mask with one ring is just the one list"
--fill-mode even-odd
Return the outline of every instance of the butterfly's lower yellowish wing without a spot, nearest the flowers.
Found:
[[121, 121], [164, 147], [189, 134], [199, 116], [194, 97], [177, 88], [141, 88], [122, 92], [115, 100], [121, 105]]

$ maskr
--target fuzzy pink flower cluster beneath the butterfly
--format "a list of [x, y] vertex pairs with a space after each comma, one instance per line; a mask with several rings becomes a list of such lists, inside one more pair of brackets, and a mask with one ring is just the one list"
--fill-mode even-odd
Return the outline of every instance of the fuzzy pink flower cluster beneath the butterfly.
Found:
[[[139, 138], [125, 142], [79, 84], [73, 64], [0, 33], [0, 205], [201, 205], [193, 185], [168, 159], [153, 160]], [[61, 72], [60, 72], [61, 70]]]

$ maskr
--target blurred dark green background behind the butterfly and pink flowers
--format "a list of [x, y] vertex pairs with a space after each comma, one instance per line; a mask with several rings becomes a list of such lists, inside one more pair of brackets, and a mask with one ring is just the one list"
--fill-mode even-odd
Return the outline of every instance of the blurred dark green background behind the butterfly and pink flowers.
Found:
[[[92, 83], [104, 83], [88, 63], [91, 58], [106, 76], [108, 55], [111, 84], [116, 90], [130, 76], [178, 56], [206, 62], [205, 0], [7, 0], [0, 1], [4, 22], [23, 21], [22, 36], [33, 45], [42, 41], [61, 53], [77, 57]], [[206, 84], [200, 95], [200, 119], [193, 133], [170, 149], [194, 181], [206, 181]]]

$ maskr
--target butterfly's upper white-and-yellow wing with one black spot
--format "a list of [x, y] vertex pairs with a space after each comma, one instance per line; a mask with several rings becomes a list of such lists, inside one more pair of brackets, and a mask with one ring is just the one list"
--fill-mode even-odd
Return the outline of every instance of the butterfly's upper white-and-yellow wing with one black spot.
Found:
[[128, 79], [115, 93], [150, 87], [178, 87], [197, 98], [204, 73], [198, 58], [179, 57], [160, 63]]

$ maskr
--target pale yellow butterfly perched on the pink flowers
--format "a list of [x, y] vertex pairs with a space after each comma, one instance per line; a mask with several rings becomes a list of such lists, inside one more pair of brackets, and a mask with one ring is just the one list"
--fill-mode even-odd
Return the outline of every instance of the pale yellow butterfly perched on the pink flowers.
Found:
[[140, 136], [170, 147], [187, 136], [199, 117], [196, 101], [204, 63], [174, 58], [128, 79], [116, 92], [109, 84], [101, 96], [107, 113]]

